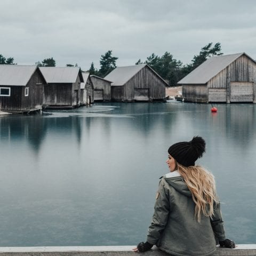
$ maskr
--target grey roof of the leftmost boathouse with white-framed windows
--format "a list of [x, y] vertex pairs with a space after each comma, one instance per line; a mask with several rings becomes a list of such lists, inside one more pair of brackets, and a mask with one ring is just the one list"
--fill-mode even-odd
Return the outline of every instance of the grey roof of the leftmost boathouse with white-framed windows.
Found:
[[37, 66], [0, 65], [0, 86], [26, 86]]

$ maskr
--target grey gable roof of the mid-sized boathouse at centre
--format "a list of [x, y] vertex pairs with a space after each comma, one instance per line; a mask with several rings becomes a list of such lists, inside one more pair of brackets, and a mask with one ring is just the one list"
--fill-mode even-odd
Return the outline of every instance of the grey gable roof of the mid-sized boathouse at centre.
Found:
[[[109, 81], [113, 81], [111, 86], [120, 86], [127, 83], [134, 75], [136, 75], [142, 68], [148, 67], [151, 69], [156, 76], [158, 76], [164, 83], [164, 79], [159, 76], [156, 71], [152, 68], [150, 68], [147, 64], [140, 64], [140, 65], [134, 65], [134, 66], [126, 66], [126, 67], [116, 67], [113, 71], [111, 71], [107, 76], [104, 77], [104, 79], [107, 79]], [[166, 83], [166, 85], [168, 85]]]

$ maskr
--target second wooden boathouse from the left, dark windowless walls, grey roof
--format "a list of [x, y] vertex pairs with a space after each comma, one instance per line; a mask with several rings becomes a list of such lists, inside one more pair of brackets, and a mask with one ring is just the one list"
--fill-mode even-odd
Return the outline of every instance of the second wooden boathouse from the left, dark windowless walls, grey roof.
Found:
[[44, 86], [45, 108], [75, 108], [81, 103], [79, 67], [39, 67], [47, 84]]

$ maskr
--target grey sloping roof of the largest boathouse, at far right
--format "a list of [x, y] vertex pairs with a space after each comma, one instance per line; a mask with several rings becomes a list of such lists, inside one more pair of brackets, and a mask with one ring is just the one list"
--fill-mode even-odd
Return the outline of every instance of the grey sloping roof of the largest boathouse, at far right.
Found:
[[206, 84], [211, 78], [216, 76], [221, 70], [225, 69], [230, 63], [241, 57], [243, 54], [255, 62], [255, 60], [244, 52], [212, 57], [182, 78], [178, 84]]

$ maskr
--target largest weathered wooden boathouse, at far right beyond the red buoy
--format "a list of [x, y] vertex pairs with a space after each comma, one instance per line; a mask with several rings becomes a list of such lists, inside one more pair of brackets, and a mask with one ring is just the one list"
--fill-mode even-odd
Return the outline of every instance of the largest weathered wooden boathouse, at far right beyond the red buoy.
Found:
[[212, 57], [178, 84], [191, 102], [256, 102], [256, 62], [246, 53]]

